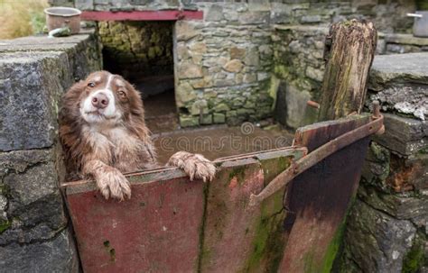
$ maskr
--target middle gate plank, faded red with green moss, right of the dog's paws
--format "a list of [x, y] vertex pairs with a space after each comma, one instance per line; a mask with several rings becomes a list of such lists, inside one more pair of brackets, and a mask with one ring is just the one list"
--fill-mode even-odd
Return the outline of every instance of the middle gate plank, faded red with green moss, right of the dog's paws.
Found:
[[[284, 190], [249, 206], [293, 157], [247, 159], [223, 164], [209, 186], [201, 272], [274, 272], [284, 250]], [[245, 163], [245, 164], [243, 164]]]

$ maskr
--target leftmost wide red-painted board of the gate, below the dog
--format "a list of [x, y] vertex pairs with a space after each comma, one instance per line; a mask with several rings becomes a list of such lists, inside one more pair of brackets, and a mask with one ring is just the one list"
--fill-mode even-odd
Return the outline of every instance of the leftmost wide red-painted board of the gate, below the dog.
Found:
[[120, 203], [94, 191], [69, 195], [83, 270], [196, 271], [203, 187], [187, 178], [138, 183]]

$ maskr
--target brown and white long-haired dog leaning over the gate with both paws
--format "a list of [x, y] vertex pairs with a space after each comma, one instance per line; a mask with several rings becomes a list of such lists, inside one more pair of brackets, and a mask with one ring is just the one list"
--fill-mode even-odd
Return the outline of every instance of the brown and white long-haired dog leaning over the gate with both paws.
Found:
[[[159, 167], [139, 93], [107, 71], [90, 74], [63, 96], [60, 141], [67, 171], [93, 177], [106, 198], [130, 198], [122, 173]], [[208, 159], [186, 151], [172, 155], [167, 165], [182, 168], [191, 180], [211, 180], [216, 171]]]

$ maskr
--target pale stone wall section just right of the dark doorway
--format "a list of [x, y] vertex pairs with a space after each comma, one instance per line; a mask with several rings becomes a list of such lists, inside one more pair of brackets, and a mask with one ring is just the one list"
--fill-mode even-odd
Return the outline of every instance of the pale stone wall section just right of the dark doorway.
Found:
[[176, 102], [181, 126], [237, 124], [272, 113], [269, 12], [245, 4], [205, 5], [204, 21], [181, 21], [176, 33]]

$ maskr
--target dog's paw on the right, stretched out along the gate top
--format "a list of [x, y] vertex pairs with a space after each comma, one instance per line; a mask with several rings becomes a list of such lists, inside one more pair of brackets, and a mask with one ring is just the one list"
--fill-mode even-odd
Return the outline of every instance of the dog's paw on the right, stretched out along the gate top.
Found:
[[191, 180], [202, 179], [207, 182], [216, 175], [216, 167], [209, 159], [187, 151], [179, 151], [173, 154], [168, 161], [168, 166], [182, 168]]

